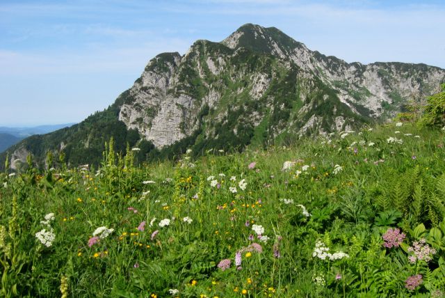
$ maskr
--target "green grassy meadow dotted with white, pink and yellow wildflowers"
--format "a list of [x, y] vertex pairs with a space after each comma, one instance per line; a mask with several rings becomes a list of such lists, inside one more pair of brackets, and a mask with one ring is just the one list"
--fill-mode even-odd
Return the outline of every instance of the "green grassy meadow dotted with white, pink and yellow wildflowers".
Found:
[[445, 293], [440, 130], [392, 123], [137, 167], [112, 149], [99, 168], [0, 173], [1, 296]]

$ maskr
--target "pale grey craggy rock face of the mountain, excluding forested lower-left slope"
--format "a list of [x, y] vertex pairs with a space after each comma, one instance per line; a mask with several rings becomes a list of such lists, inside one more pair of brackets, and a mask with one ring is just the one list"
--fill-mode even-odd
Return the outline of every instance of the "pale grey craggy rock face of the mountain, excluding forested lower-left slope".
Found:
[[[255, 130], [267, 122], [273, 139], [288, 131], [328, 132], [389, 118], [408, 100], [420, 102], [440, 91], [443, 81], [440, 68], [348, 64], [312, 52], [275, 28], [246, 24], [222, 42], [198, 40], [184, 56], [152, 59], [130, 89], [119, 120], [163, 148], [193, 134], [208, 106], [205, 136], [218, 138], [217, 123], [230, 124], [237, 134], [239, 123]], [[317, 115], [318, 109], [328, 114]], [[227, 114], [240, 110], [242, 115], [228, 123]]]

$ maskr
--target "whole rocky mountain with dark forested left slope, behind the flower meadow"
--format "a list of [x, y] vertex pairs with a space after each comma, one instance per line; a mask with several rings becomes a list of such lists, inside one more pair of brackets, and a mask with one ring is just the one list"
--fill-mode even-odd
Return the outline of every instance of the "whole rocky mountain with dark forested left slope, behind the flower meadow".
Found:
[[182, 56], [159, 54], [108, 109], [8, 152], [11, 161], [31, 152], [40, 164], [48, 150], [63, 152], [76, 165], [97, 164], [111, 136], [118, 152], [137, 146], [139, 161], [267, 146], [384, 121], [444, 81], [441, 68], [346, 63], [276, 28], [245, 24], [222, 42], [197, 40]]

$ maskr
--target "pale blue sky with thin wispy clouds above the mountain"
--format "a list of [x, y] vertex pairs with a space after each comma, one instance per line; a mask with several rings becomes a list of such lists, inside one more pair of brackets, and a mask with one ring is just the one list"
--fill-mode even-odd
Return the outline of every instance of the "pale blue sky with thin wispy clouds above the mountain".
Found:
[[0, 0], [0, 126], [79, 122], [112, 104], [161, 52], [275, 26], [347, 62], [445, 68], [436, 1]]

